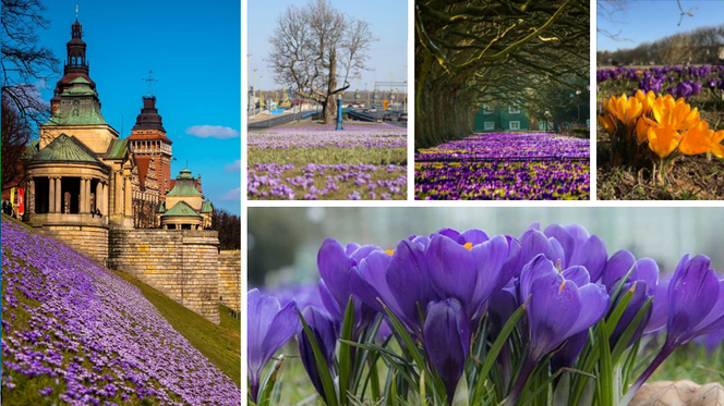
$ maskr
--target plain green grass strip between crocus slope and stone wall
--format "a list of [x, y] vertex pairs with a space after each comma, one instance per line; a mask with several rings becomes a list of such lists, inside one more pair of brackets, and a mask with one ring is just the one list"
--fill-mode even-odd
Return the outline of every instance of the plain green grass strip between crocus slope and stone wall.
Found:
[[135, 276], [113, 272], [137, 286], [176, 331], [241, 387], [241, 319], [231, 317], [231, 309], [219, 305], [221, 323], [217, 325]]

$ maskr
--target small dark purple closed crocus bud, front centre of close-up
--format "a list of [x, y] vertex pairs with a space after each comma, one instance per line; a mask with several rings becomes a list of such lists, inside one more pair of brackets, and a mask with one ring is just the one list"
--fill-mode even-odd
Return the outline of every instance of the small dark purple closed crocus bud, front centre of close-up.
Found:
[[470, 349], [470, 327], [458, 300], [449, 298], [427, 306], [424, 341], [427, 358], [443, 379], [451, 405]]

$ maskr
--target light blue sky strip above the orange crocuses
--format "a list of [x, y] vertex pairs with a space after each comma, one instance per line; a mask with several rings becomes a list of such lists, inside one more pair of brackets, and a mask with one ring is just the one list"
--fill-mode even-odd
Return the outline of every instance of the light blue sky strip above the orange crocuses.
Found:
[[613, 21], [598, 14], [598, 26], [612, 34], [620, 32], [619, 37], [626, 40], [613, 40], [598, 34], [599, 51], [634, 48], [641, 42], [692, 30], [698, 27], [721, 25], [724, 23], [724, 1], [681, 1], [685, 12], [691, 9], [692, 17], [685, 15], [681, 25], [677, 26], [681, 11], [676, 1], [630, 1], [623, 12], [614, 14]]

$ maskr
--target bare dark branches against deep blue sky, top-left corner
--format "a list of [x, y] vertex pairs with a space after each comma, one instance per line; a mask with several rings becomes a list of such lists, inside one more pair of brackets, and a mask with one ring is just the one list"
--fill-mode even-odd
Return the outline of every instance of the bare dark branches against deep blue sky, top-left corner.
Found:
[[36, 123], [50, 112], [37, 86], [59, 73], [52, 51], [38, 45], [37, 29], [48, 27], [44, 11], [40, 0], [2, 0], [2, 96]]

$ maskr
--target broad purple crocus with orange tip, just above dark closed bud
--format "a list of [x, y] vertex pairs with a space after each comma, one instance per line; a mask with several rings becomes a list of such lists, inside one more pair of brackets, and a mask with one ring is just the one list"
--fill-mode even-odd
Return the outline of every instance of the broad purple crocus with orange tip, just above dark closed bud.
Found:
[[430, 279], [442, 297], [460, 300], [466, 316], [478, 320], [493, 294], [512, 278], [512, 268], [505, 268], [510, 246], [503, 235], [473, 245], [444, 235], [434, 235], [425, 251]]

